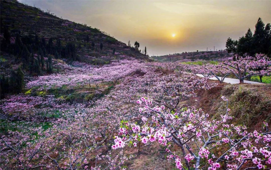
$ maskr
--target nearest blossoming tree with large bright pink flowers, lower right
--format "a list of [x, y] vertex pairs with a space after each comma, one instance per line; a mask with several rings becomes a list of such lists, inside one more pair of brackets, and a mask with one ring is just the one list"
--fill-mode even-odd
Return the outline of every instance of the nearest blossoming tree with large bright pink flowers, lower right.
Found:
[[[228, 102], [224, 96], [222, 99]], [[143, 125], [121, 122], [113, 149], [137, 146], [139, 142], [158, 142], [166, 146], [167, 159], [173, 159], [178, 169], [202, 169], [201, 159], [207, 162], [208, 169], [220, 169], [222, 164], [226, 169], [241, 169], [249, 162], [251, 167], [247, 169], [270, 167], [271, 132], [265, 122], [263, 131], [249, 133], [246, 126], [227, 124], [228, 119], [232, 119], [228, 116], [228, 108], [220, 118], [208, 120], [209, 115], [201, 109], [173, 111], [163, 105], [155, 106], [151, 99], [144, 97], [137, 103], [141, 106]], [[180, 153], [172, 151], [173, 145], [180, 148]]]

